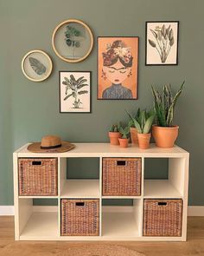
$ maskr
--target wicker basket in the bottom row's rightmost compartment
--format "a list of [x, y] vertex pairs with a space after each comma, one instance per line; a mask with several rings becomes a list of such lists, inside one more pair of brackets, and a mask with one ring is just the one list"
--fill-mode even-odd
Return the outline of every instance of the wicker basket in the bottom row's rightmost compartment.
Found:
[[144, 236], [182, 236], [182, 200], [144, 200]]

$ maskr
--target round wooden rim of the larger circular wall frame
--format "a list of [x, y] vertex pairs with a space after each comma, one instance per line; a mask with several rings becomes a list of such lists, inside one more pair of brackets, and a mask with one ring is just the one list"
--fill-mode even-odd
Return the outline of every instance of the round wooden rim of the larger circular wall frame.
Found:
[[[86, 30], [88, 31], [89, 33], [89, 36], [90, 36], [90, 40], [91, 40], [91, 43], [90, 43], [90, 48], [88, 49], [87, 53], [85, 56], [81, 57], [80, 59], [77, 59], [77, 60], [73, 60], [73, 59], [67, 59], [67, 58], [64, 58], [63, 56], [61, 56], [59, 54], [59, 52], [56, 50], [55, 46], [54, 46], [54, 37], [55, 37], [55, 34], [57, 32], [57, 30], [59, 30], [61, 28], [61, 26], [63, 26], [64, 24], [66, 23], [80, 23], [82, 26], [84, 26], [86, 28]], [[55, 29], [54, 29], [54, 32], [53, 32], [53, 36], [52, 36], [52, 45], [53, 45], [53, 49], [54, 49], [54, 52], [57, 56], [59, 56], [61, 58], [61, 60], [65, 61], [65, 62], [71, 62], [71, 63], [74, 63], [74, 62], [82, 62], [83, 60], [86, 59], [87, 56], [90, 55], [91, 51], [92, 51], [92, 47], [93, 47], [93, 36], [92, 36], [92, 30], [86, 25], [86, 23], [83, 23], [81, 22], [80, 20], [76, 20], [76, 19], [70, 19], [70, 20], [66, 20], [62, 23], [60, 23]]]

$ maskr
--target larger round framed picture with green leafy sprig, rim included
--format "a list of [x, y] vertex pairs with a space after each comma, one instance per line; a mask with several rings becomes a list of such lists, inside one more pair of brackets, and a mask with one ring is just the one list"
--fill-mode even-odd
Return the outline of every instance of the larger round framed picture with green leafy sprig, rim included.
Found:
[[60, 23], [52, 37], [54, 52], [65, 62], [81, 62], [92, 51], [92, 31], [79, 20]]

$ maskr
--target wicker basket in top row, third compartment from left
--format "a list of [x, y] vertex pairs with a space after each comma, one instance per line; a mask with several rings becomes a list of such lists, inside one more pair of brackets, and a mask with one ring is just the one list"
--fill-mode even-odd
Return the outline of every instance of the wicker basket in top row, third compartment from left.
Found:
[[140, 195], [141, 159], [104, 158], [103, 195]]

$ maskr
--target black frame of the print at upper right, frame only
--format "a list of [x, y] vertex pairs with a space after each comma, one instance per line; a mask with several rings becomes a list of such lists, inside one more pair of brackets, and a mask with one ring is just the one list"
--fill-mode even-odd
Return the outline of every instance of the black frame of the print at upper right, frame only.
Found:
[[[148, 23], [177, 23], [177, 41], [176, 41], [176, 56], [175, 56], [175, 63], [148, 63], [147, 62], [147, 55], [148, 55]], [[145, 66], [176, 66], [178, 65], [178, 46], [179, 46], [179, 21], [147, 21], [145, 23]]]

